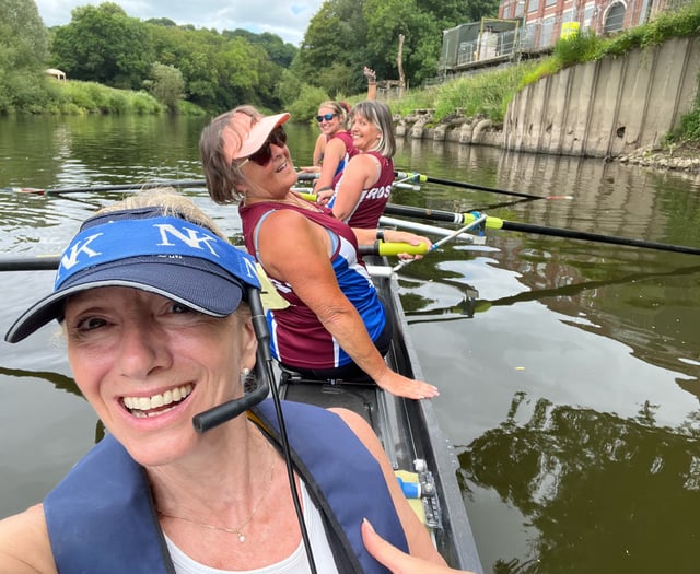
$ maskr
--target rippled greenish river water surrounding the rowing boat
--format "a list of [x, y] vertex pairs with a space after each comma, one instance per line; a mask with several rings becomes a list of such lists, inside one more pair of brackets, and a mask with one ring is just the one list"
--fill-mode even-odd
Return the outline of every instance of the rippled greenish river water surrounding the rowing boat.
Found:
[[[0, 187], [201, 179], [198, 118], [0, 118]], [[314, 127], [290, 126], [298, 165]], [[404, 140], [423, 184], [392, 201], [700, 248], [697, 179], [635, 166]], [[241, 243], [235, 208], [185, 192]], [[0, 248], [57, 254], [119, 194], [0, 192]], [[489, 231], [406, 266], [401, 298], [442, 427], [459, 455], [487, 573], [697, 572], [700, 258]], [[0, 330], [52, 273], [3, 271]], [[475, 302], [470, 303], [472, 298]], [[98, 434], [46, 327], [0, 343], [0, 516], [38, 502]]]

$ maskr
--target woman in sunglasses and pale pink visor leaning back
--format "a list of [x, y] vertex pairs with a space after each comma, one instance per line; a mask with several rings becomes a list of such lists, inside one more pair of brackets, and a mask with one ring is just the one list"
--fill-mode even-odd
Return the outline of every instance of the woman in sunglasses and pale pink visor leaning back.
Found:
[[[199, 142], [209, 195], [218, 203], [240, 202], [246, 247], [289, 303], [268, 312], [273, 356], [314, 378], [370, 377], [397, 396], [436, 396], [433, 385], [404, 377], [384, 361], [392, 325], [358, 247], [374, 243], [377, 230], [351, 229], [292, 191], [296, 172], [282, 128], [288, 119], [240, 106], [214, 118]], [[412, 233], [383, 233], [389, 242], [430, 246]]]

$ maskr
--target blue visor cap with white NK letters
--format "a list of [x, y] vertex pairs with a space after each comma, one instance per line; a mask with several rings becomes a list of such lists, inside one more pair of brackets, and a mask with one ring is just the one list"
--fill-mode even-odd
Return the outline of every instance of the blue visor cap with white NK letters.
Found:
[[83, 224], [61, 256], [54, 293], [22, 315], [5, 341], [62, 320], [67, 296], [100, 286], [140, 289], [225, 317], [246, 286], [260, 289], [260, 282], [253, 257], [205, 227], [151, 208], [115, 211]]

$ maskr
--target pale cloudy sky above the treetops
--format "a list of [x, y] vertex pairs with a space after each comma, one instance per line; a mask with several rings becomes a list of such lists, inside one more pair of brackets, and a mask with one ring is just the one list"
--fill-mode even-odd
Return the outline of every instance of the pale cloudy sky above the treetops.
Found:
[[[34, 0], [46, 26], [70, 22], [79, 5], [100, 5], [103, 0]], [[223, 30], [271, 32], [299, 46], [311, 17], [323, 0], [112, 0], [132, 17], [168, 17], [176, 24]]]

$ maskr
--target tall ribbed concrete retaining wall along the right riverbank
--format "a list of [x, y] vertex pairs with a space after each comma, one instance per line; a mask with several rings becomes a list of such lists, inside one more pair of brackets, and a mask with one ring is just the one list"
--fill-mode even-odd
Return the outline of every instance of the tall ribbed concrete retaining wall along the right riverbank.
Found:
[[692, 108], [699, 73], [700, 37], [674, 38], [540, 79], [515, 95], [503, 126], [455, 118], [429, 128], [432, 110], [417, 110], [396, 130], [512, 151], [617, 157], [657, 145], [678, 126]]

